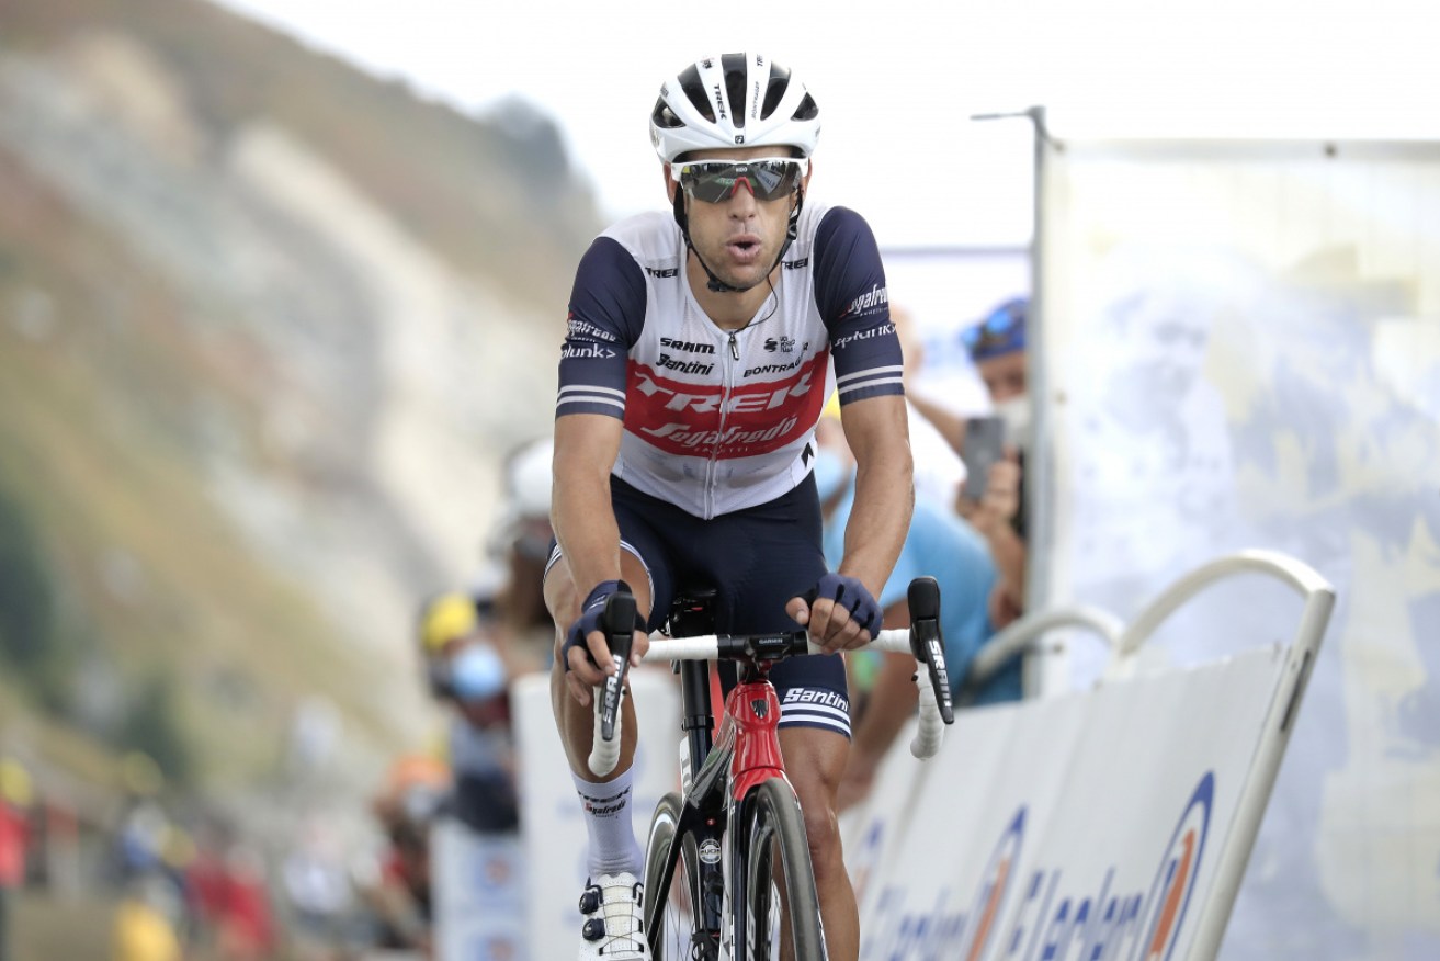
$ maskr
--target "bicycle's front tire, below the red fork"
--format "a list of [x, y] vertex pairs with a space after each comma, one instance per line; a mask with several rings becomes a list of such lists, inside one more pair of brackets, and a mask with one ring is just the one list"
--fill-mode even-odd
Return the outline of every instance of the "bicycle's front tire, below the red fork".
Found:
[[[779, 952], [772, 954], [772, 942], [776, 941], [773, 922], [780, 916], [782, 905], [789, 919], [795, 961], [825, 961], [819, 895], [795, 788], [780, 778], [762, 781], [750, 790], [743, 810], [742, 824], [747, 836], [744, 903], [740, 906], [743, 916], [736, 918], [736, 937], [743, 938], [746, 961], [779, 957]], [[775, 870], [776, 854], [779, 872]], [[779, 903], [775, 902], [776, 895], [780, 896]]]

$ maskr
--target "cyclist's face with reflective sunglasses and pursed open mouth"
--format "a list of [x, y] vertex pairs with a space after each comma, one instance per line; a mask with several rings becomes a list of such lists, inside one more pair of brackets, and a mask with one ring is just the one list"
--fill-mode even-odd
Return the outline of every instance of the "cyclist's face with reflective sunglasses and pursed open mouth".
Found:
[[[786, 147], [734, 147], [729, 150], [707, 150], [697, 153], [675, 167], [704, 161], [739, 163], [757, 157], [788, 157]], [[683, 187], [667, 171], [667, 184], [674, 200], [674, 192]], [[804, 183], [809, 183], [805, 174]], [[685, 210], [690, 219], [690, 242], [701, 259], [726, 284], [749, 288], [760, 284], [775, 265], [785, 243], [791, 209], [795, 206], [795, 192], [773, 200], [762, 200], [746, 182], [737, 182], [734, 190], [717, 202], [685, 196]]]

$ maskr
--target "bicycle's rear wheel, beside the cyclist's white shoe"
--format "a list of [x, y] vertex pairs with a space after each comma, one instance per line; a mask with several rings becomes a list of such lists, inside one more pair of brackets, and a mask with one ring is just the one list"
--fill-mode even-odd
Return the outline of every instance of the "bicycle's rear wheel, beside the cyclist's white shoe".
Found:
[[660, 798], [649, 821], [645, 843], [645, 939], [654, 961], [716, 961], [719, 944], [696, 932], [700, 913], [697, 857], [698, 849], [688, 833], [680, 836], [680, 852], [668, 879], [675, 831], [684, 800], [671, 791]]

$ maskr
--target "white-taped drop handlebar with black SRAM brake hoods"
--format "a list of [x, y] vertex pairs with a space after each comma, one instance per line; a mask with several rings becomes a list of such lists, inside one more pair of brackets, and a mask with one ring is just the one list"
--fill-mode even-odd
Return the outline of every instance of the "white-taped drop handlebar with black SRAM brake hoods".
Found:
[[[945, 664], [945, 641], [940, 635], [940, 588], [935, 578], [916, 578], [909, 588], [910, 628], [881, 630], [865, 647], [880, 651], [910, 654], [916, 660], [916, 686], [920, 693], [920, 725], [910, 742], [916, 758], [932, 758], [939, 752], [946, 725], [955, 723], [950, 700], [950, 680]], [[621, 702], [625, 696], [625, 676], [634, 641], [629, 625], [635, 624], [635, 598], [613, 594], [605, 604], [600, 620], [615, 658], [615, 673], [605, 679], [595, 697], [595, 738], [589, 766], [596, 777], [605, 777], [619, 761]], [[621, 630], [613, 630], [622, 625]], [[857, 648], [864, 650], [864, 648]], [[809, 640], [805, 631], [779, 634], [710, 634], [703, 637], [652, 635], [644, 656], [651, 661], [717, 661], [717, 660], [782, 660], [799, 654], [821, 654], [824, 648]], [[926, 683], [929, 680], [929, 683]]]

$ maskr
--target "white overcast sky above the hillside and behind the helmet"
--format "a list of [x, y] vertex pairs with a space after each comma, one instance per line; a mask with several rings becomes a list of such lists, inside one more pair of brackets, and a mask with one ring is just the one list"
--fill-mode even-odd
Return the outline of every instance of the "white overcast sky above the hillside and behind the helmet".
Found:
[[647, 120], [704, 53], [768, 52], [821, 105], [815, 196], [886, 246], [1021, 243], [1030, 125], [1057, 135], [1440, 138], [1428, 0], [220, 0], [382, 75], [559, 122], [609, 215], [662, 206]]

